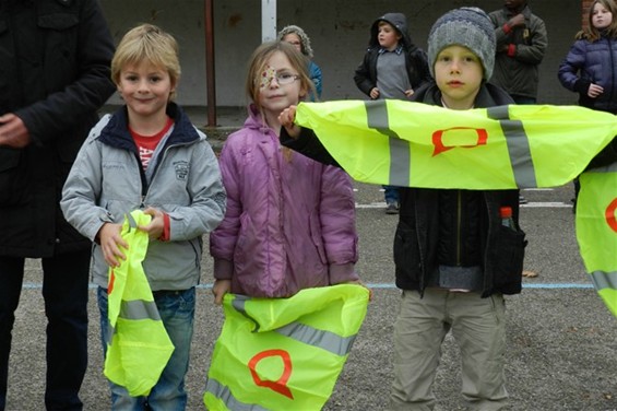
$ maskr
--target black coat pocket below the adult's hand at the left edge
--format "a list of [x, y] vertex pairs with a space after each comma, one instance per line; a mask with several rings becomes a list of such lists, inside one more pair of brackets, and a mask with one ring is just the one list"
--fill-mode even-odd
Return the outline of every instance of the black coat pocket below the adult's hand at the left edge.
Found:
[[27, 176], [26, 152], [0, 148], [0, 207], [26, 203]]

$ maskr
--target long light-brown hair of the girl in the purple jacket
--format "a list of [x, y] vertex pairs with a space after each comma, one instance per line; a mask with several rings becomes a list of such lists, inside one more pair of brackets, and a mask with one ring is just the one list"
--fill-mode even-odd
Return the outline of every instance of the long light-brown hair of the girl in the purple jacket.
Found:
[[259, 46], [252, 54], [249, 60], [249, 69], [246, 82], [246, 92], [248, 97], [253, 102], [256, 107], [261, 111], [259, 103], [259, 94], [261, 93], [260, 78], [261, 73], [265, 70], [268, 60], [276, 51], [281, 51], [287, 57], [292, 68], [298, 72], [300, 81], [300, 90], [308, 94], [309, 91], [315, 93], [315, 85], [309, 78], [308, 60], [299, 52], [294, 46], [285, 42], [268, 42]]

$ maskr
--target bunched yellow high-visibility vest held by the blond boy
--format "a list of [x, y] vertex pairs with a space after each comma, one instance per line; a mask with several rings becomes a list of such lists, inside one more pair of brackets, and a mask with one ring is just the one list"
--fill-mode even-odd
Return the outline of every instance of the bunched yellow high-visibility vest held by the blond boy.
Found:
[[109, 269], [107, 290], [110, 341], [104, 374], [132, 397], [150, 394], [174, 352], [142, 267], [149, 238], [137, 226], [150, 219], [140, 210], [127, 214], [121, 232], [129, 244], [122, 249], [127, 259]]

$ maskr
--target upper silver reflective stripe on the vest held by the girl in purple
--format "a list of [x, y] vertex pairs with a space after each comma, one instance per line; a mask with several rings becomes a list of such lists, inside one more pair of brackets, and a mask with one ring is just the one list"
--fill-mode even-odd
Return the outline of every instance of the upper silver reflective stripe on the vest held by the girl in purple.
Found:
[[[259, 325], [257, 321], [247, 314], [245, 309], [246, 302], [250, 300], [245, 295], [238, 295], [232, 302], [234, 308], [239, 313], [242, 313], [247, 318], [250, 318], [256, 324], [256, 329], [253, 332], [259, 330]], [[335, 355], [346, 355], [351, 350], [356, 339], [356, 334], [349, 337], [341, 337], [334, 332], [318, 330], [317, 328], [307, 326], [305, 324], [294, 321], [286, 326], [280, 327], [273, 330], [282, 336], [292, 338], [296, 341], [302, 342], [315, 348], [319, 348], [325, 351], [330, 351]]]

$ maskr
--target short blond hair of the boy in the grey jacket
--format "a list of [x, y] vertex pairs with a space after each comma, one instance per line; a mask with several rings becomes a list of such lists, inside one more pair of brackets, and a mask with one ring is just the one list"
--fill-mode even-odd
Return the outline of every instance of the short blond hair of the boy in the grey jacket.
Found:
[[[124, 34], [111, 60], [111, 80], [118, 85], [122, 69], [143, 62], [167, 70], [171, 85], [178, 84], [181, 73], [178, 43], [154, 24], [141, 24]], [[169, 99], [175, 94], [173, 91]]]

